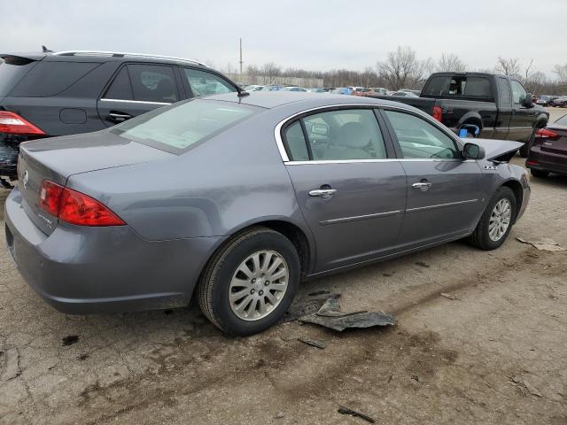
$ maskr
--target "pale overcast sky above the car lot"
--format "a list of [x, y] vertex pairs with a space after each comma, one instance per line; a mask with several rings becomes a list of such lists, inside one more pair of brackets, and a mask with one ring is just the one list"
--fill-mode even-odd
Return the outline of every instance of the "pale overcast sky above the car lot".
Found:
[[266, 62], [363, 70], [398, 45], [456, 53], [471, 68], [499, 55], [567, 63], [567, 0], [17, 0], [2, 8], [0, 50], [118, 50], [199, 58], [226, 71]]

